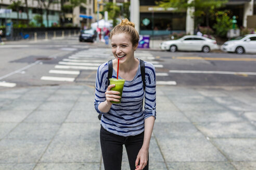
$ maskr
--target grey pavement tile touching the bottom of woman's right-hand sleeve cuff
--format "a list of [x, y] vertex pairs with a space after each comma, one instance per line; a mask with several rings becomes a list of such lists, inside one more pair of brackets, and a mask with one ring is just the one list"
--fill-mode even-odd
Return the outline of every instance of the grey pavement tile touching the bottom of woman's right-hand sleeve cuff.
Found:
[[181, 111], [158, 111], [156, 122], [189, 122]]

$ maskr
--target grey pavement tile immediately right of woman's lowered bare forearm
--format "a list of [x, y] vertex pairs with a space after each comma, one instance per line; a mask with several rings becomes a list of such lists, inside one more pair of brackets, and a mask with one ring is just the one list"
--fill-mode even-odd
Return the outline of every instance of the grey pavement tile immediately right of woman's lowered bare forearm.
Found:
[[203, 137], [203, 135], [191, 123], [163, 123], [156, 122], [153, 129], [153, 134], [157, 140], [165, 138], [179, 138], [179, 137]]

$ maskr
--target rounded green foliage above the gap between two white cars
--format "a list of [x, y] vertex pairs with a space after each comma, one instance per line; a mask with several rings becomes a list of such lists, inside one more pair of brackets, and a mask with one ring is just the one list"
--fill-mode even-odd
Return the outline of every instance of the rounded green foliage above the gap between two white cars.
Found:
[[213, 25], [213, 29], [216, 30], [215, 34], [220, 37], [226, 37], [228, 30], [232, 29], [232, 19], [225, 11], [219, 11], [216, 15], [216, 23]]

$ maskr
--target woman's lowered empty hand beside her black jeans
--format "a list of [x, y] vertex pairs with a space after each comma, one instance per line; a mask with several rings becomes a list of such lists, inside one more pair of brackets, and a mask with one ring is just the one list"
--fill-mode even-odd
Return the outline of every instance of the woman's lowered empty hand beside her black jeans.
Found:
[[[139, 165], [138, 165], [139, 163]], [[138, 152], [137, 159], [135, 161], [135, 170], [142, 170], [148, 163], [148, 149], [141, 148]]]

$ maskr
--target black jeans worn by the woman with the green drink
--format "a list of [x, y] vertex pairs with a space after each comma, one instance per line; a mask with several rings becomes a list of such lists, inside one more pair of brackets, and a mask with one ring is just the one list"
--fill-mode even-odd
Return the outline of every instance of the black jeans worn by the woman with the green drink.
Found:
[[[100, 146], [105, 170], [121, 170], [123, 145], [125, 145], [131, 170], [135, 169], [135, 161], [142, 148], [144, 132], [135, 136], [119, 136], [100, 128]], [[148, 163], [144, 170], [148, 170]]]

